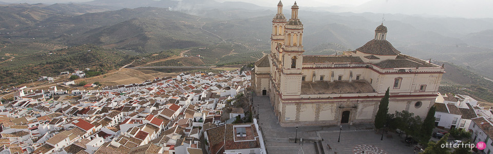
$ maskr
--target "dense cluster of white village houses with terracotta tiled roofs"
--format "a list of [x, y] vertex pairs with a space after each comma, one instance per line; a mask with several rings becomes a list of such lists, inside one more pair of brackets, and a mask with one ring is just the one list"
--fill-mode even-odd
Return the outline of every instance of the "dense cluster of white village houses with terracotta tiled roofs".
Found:
[[[245, 105], [250, 78], [250, 71], [235, 70], [181, 73], [88, 91], [21, 89], [14, 101], [0, 105], [0, 152], [216, 153], [247, 149], [258, 153], [265, 148], [256, 120], [251, 118], [251, 105]], [[54, 96], [66, 99], [58, 101]], [[247, 101], [238, 105], [241, 100]], [[250, 123], [232, 124], [243, 122]]]

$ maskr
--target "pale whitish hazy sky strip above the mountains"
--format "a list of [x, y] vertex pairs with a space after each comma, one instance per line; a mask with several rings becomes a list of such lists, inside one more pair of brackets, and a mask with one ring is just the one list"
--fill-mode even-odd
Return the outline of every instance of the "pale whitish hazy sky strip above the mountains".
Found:
[[[8, 3], [81, 3], [93, 0], [0, 0]], [[275, 8], [279, 0], [215, 0], [218, 2], [236, 1]], [[285, 7], [293, 5], [295, 0], [282, 0]], [[373, 12], [427, 16], [493, 18], [492, 0], [297, 0], [304, 7], [325, 7], [330, 12]], [[337, 7], [334, 7], [337, 6]]]

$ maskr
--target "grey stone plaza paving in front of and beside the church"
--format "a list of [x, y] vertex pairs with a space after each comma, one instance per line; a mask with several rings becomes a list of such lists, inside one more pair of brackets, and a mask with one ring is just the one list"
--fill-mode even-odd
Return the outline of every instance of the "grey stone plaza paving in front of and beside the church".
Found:
[[[316, 153], [313, 142], [294, 143], [288, 142], [295, 136], [303, 139], [321, 140], [325, 153], [413, 153], [413, 147], [403, 143], [397, 134], [392, 138], [381, 141], [382, 134], [377, 134], [372, 125], [343, 125], [339, 137], [337, 126], [300, 126], [296, 134], [296, 127], [280, 127], [277, 117], [270, 105], [269, 97], [257, 96], [253, 98], [255, 112], [259, 105], [258, 122], [266, 140], [267, 150], [274, 153]], [[257, 117], [254, 114], [254, 117]], [[331, 149], [327, 146], [330, 145]], [[418, 153], [418, 152], [416, 152]]]

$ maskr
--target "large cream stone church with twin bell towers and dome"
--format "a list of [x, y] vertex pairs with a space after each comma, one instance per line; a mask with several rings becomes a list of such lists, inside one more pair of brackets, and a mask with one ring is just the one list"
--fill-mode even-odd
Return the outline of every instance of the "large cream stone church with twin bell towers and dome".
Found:
[[270, 97], [281, 126], [373, 123], [387, 88], [389, 113], [426, 117], [444, 68], [395, 49], [383, 24], [373, 40], [343, 55], [303, 55], [303, 30], [296, 2], [289, 20], [279, 2], [271, 52], [255, 63], [252, 74], [254, 91]]

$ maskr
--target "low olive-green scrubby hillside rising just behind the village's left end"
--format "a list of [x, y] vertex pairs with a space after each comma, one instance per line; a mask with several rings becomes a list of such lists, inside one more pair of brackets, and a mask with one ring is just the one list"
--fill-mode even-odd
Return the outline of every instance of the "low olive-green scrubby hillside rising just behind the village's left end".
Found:
[[83, 70], [106, 72], [130, 63], [135, 57], [120, 51], [82, 45], [15, 57], [0, 65], [0, 85], [16, 85], [39, 76], [56, 76], [63, 71]]

